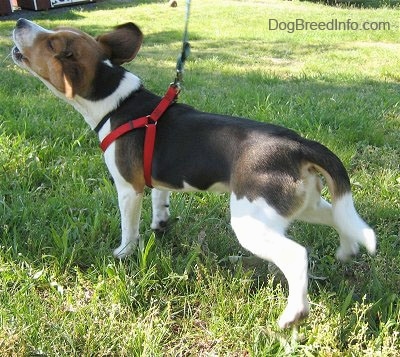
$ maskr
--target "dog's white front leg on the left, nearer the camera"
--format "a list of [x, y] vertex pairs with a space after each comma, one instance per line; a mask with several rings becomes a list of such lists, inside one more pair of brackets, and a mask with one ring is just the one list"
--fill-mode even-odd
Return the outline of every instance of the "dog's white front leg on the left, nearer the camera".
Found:
[[114, 257], [123, 259], [132, 253], [139, 240], [140, 213], [143, 192], [136, 192], [130, 184], [117, 184], [118, 205], [121, 212], [121, 244]]

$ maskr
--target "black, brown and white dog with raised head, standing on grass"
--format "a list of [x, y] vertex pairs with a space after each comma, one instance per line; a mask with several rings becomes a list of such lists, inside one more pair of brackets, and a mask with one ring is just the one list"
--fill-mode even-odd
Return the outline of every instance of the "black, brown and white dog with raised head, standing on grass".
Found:
[[[143, 34], [133, 23], [93, 38], [77, 29], [47, 30], [19, 19], [13, 40], [14, 62], [73, 105], [97, 129], [100, 141], [132, 118], [148, 116], [161, 100], [121, 67], [142, 44]], [[122, 238], [114, 256], [120, 259], [139, 240], [145, 136], [146, 128], [129, 131], [104, 153], [118, 193]], [[172, 103], [157, 122], [150, 169], [152, 229], [165, 228], [171, 190], [230, 193], [231, 226], [238, 241], [273, 262], [288, 281], [281, 328], [309, 313], [307, 251], [285, 235], [291, 222], [336, 229], [336, 257], [341, 261], [355, 255], [359, 246], [375, 253], [375, 233], [354, 208], [342, 162], [322, 144], [289, 129]], [[332, 203], [321, 197], [321, 176]]]

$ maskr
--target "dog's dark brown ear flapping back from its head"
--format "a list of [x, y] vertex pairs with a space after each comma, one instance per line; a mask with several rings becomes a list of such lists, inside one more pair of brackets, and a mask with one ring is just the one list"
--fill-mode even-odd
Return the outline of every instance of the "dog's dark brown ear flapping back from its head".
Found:
[[143, 34], [139, 27], [128, 22], [117, 26], [112, 32], [98, 36], [97, 41], [111, 62], [120, 65], [136, 57], [142, 45]]

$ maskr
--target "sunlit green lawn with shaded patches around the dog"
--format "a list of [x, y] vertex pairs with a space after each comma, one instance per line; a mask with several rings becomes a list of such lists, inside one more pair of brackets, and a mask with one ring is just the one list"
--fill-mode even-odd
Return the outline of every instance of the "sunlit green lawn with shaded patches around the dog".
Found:
[[[127, 67], [162, 94], [174, 76], [183, 5], [107, 1], [34, 16], [46, 27], [93, 35], [136, 22], [146, 37]], [[391, 28], [288, 33], [269, 30], [268, 18], [351, 18]], [[279, 273], [260, 262], [227, 262], [241, 248], [226, 195], [174, 194], [180, 219], [161, 236], [149, 229], [147, 196], [143, 246], [125, 261], [111, 257], [119, 214], [97, 138], [12, 63], [13, 26], [0, 22], [0, 355], [399, 355], [398, 9], [192, 4], [193, 50], [180, 101], [282, 124], [330, 147], [378, 235], [375, 257], [363, 251], [340, 264], [331, 229], [290, 229], [309, 249], [311, 274], [311, 315], [297, 336], [276, 326], [287, 295]]]

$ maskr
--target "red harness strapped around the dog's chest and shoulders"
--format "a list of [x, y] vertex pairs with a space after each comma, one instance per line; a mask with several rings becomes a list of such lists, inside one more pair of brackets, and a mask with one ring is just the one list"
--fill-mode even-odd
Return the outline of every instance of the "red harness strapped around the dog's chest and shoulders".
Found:
[[128, 121], [125, 124], [114, 129], [109, 133], [100, 143], [101, 149], [104, 151], [120, 136], [138, 128], [146, 128], [146, 133], [144, 137], [144, 150], [143, 150], [143, 171], [144, 180], [146, 185], [152, 187], [151, 185], [151, 167], [153, 162], [154, 144], [156, 140], [156, 126], [158, 119], [165, 113], [168, 107], [176, 100], [179, 94], [179, 87], [176, 85], [170, 85], [167, 93], [161, 99], [161, 102], [153, 110], [150, 115], [145, 117], [140, 117]]

